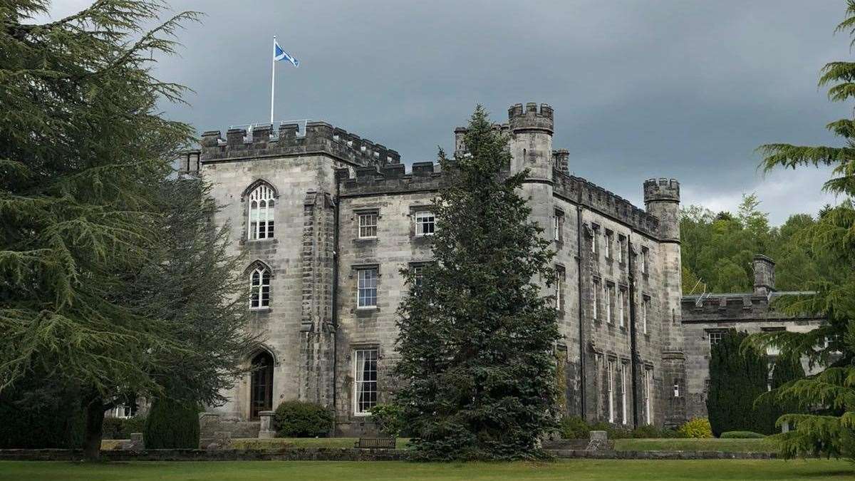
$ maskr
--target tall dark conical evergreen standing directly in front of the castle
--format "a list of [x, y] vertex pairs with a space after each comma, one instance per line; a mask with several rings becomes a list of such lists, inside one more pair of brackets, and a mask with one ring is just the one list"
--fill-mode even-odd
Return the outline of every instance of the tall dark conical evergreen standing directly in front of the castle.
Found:
[[519, 192], [528, 172], [506, 170], [507, 141], [479, 106], [468, 153], [439, 152], [435, 262], [404, 271], [396, 396], [428, 459], [532, 457], [556, 419], [556, 311], [536, 283], [551, 284], [554, 252]]

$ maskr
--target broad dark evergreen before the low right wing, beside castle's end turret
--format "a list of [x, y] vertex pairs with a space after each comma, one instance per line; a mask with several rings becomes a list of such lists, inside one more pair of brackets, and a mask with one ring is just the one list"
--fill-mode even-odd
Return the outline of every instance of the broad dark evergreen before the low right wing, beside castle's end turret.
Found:
[[766, 391], [769, 368], [758, 351], [740, 351], [747, 336], [728, 330], [712, 347], [706, 409], [716, 437], [726, 431], [768, 431], [754, 401]]

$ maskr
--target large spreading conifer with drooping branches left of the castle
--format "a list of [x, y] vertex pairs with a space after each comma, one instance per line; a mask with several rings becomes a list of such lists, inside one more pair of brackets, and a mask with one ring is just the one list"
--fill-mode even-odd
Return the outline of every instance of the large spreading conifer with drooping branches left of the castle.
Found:
[[147, 31], [166, 3], [99, 0], [28, 22], [47, 6], [0, 6], [0, 389], [44, 372], [80, 392], [97, 459], [105, 410], [216, 401], [251, 339], [232, 337], [245, 318], [224, 237], [193, 217], [211, 215], [203, 189], [167, 180], [192, 128], [160, 116], [185, 88], [150, 63], [197, 14]]

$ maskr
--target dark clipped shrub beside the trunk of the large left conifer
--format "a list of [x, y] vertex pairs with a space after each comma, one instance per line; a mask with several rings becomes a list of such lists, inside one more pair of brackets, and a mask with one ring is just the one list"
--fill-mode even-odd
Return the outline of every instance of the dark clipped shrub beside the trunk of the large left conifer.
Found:
[[198, 448], [200, 411], [195, 404], [156, 399], [145, 419], [145, 448]]

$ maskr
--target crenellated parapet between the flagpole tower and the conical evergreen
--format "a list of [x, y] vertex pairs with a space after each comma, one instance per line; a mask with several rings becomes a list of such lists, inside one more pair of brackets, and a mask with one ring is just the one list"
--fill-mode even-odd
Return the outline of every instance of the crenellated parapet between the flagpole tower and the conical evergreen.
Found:
[[336, 169], [335, 178], [339, 183], [340, 197], [430, 192], [445, 185], [445, 176], [439, 165], [432, 162], [413, 163], [410, 172], [404, 169], [403, 163], [380, 168], [357, 167], [354, 177], [351, 177], [350, 169]]

